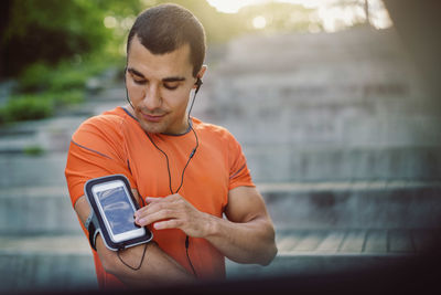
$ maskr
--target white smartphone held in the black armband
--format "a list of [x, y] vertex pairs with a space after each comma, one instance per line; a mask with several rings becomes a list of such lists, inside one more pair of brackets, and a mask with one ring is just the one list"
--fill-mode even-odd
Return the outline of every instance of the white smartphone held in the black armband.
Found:
[[95, 203], [114, 243], [144, 236], [147, 231], [135, 223], [137, 207], [122, 180], [116, 179], [92, 187]]

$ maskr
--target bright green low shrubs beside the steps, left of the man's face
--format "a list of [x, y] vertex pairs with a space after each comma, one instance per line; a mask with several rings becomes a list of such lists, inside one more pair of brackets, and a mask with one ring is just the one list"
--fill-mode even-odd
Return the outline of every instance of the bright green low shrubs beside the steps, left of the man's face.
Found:
[[87, 80], [118, 65], [122, 66], [121, 60], [98, 57], [77, 63], [65, 60], [57, 65], [31, 64], [18, 77], [17, 93], [0, 106], [0, 124], [45, 118], [60, 107], [82, 103]]

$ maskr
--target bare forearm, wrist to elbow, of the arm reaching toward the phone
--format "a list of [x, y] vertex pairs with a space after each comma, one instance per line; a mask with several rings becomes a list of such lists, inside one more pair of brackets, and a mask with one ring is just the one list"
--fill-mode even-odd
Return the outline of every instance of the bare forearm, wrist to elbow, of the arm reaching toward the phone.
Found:
[[275, 230], [268, 219], [259, 217], [243, 223], [213, 215], [207, 219], [206, 240], [229, 260], [267, 265], [275, 257]]

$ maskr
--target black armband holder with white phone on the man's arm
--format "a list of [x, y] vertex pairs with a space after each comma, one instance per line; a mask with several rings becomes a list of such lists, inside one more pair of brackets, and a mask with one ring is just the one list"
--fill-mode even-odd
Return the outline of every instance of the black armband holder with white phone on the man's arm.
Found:
[[112, 175], [88, 180], [84, 186], [90, 206], [85, 228], [90, 246], [96, 251], [96, 236], [101, 234], [111, 251], [123, 250], [152, 240], [153, 234], [135, 224], [133, 213], [139, 209], [123, 175]]

